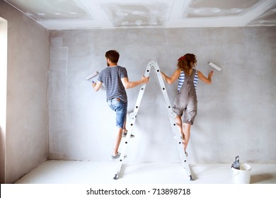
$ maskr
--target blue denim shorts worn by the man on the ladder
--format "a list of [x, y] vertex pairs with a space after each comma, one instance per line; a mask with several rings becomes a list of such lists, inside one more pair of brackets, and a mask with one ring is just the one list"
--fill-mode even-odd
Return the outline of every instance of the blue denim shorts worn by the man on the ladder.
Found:
[[122, 102], [119, 98], [113, 98], [108, 100], [108, 105], [116, 112], [116, 126], [123, 129], [127, 118], [127, 103]]

